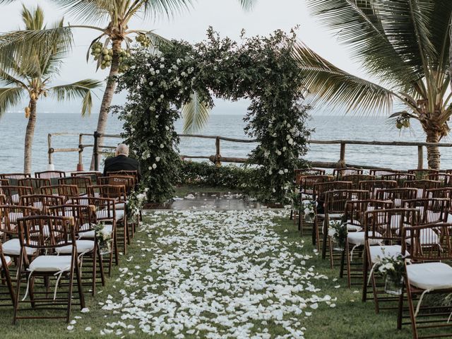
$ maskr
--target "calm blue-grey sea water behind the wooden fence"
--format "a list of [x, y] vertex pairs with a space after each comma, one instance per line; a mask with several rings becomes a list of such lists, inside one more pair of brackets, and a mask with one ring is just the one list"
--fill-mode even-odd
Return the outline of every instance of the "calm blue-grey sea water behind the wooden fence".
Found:
[[[22, 172], [23, 139], [27, 120], [23, 114], [8, 113], [0, 120], [0, 172]], [[34, 172], [47, 168], [47, 134], [57, 132], [93, 133], [97, 125], [97, 115], [81, 118], [79, 114], [38, 114], [33, 144]], [[240, 115], [211, 115], [203, 134], [246, 138], [244, 121]], [[354, 139], [362, 141], [424, 141], [420, 126], [413, 126], [411, 133], [399, 133], [386, 124], [381, 117], [343, 117], [314, 116], [309, 125], [316, 129], [312, 138], [316, 140]], [[182, 130], [182, 121], [177, 121], [177, 130]], [[108, 133], [120, 133], [121, 122], [117, 117], [109, 117]], [[110, 140], [109, 143], [116, 141]], [[449, 142], [449, 141], [448, 141]], [[85, 138], [84, 143], [93, 143], [92, 138]], [[54, 148], [76, 148], [78, 136], [54, 136]], [[246, 157], [255, 144], [230, 143], [222, 141], [223, 156]], [[311, 145], [307, 159], [335, 162], [339, 158], [339, 145]], [[213, 155], [215, 141], [212, 139], [182, 138], [180, 151], [184, 155]], [[441, 150], [441, 167], [452, 168], [452, 154], [448, 148]], [[347, 145], [346, 160], [352, 164], [377, 165], [396, 169], [417, 167], [416, 147], [362, 146]], [[75, 170], [78, 153], [54, 153], [56, 169]], [[85, 150], [83, 163], [89, 168], [90, 149]], [[425, 164], [427, 161], [425, 162]]]

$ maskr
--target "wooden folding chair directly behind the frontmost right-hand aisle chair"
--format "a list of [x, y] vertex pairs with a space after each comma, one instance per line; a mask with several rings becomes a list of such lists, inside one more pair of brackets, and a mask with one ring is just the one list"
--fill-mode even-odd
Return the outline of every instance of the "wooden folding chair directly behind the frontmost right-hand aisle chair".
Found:
[[396, 257], [402, 253], [400, 242], [403, 228], [418, 225], [419, 220], [420, 212], [415, 208], [369, 210], [364, 213], [365, 249], [362, 301], [367, 300], [367, 284], [370, 281], [376, 313], [379, 313], [380, 309], [388, 308], [380, 307], [380, 302], [393, 302], [394, 298], [381, 296], [386, 293], [377, 288], [376, 275], [378, 272], [374, 268], [381, 258]]

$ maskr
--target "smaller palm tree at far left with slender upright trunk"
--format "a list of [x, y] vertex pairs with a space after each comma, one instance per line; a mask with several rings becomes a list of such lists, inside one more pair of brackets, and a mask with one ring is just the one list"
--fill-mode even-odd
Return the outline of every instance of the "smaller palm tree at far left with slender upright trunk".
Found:
[[[45, 30], [44, 13], [42, 8], [29, 11], [25, 6], [22, 10], [25, 30]], [[63, 26], [61, 20], [56, 28]], [[1, 40], [1, 37], [0, 37]], [[82, 115], [90, 114], [92, 107], [91, 90], [102, 85], [100, 81], [85, 79], [68, 85], [49, 86], [52, 79], [57, 76], [61, 66], [61, 59], [68, 52], [67, 40], [64, 35], [54, 35], [46, 44], [35, 44], [23, 49], [23, 54], [4, 54], [0, 63], [0, 81], [4, 88], [0, 88], [0, 115], [14, 105], [19, 105], [23, 98], [29, 100], [25, 107], [25, 117], [28, 118], [25, 131], [24, 165], [25, 173], [31, 172], [32, 143], [35, 133], [37, 101], [41, 97], [52, 95], [57, 100], [81, 98]]]

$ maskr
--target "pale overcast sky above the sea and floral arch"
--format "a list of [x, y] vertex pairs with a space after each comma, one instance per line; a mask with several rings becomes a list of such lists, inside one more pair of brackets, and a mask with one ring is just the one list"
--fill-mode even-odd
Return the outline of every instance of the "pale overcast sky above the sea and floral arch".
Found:
[[[64, 11], [57, 9], [52, 1], [47, 0], [23, 0], [15, 4], [2, 5], [0, 11], [0, 32], [23, 28], [20, 18], [22, 4], [33, 7], [39, 4], [44, 9], [47, 23], [54, 23], [64, 16], [66, 23], [72, 25], [79, 22], [65, 15]], [[172, 18], [148, 18], [133, 20], [129, 27], [145, 30], [154, 30], [157, 34], [169, 39], [198, 42], [206, 37], [209, 26], [220, 32], [222, 37], [239, 39], [242, 28], [247, 36], [269, 35], [277, 29], [288, 32], [299, 25], [297, 36], [311, 49], [328, 59], [336, 66], [350, 73], [364, 76], [359, 64], [350, 61], [350, 54], [345, 47], [338, 44], [331, 32], [328, 32], [315, 18], [310, 16], [305, 0], [258, 0], [250, 11], [244, 11], [238, 0], [194, 0], [193, 7], [182, 13], [177, 13]], [[74, 30], [73, 51], [65, 59], [60, 75], [54, 79], [54, 84], [71, 83], [84, 78], [97, 78], [104, 80], [107, 71], [95, 71], [95, 61], [86, 62], [86, 52], [90, 42], [98, 35], [97, 31], [79, 28]], [[94, 99], [93, 113], [98, 112], [102, 90], [97, 90]], [[115, 95], [114, 104], [125, 101], [126, 95]], [[244, 114], [246, 102], [231, 103], [217, 100], [214, 112], [225, 114]], [[25, 102], [19, 107], [10, 109], [12, 112], [23, 112]], [[39, 102], [40, 112], [80, 112], [80, 102], [56, 103], [52, 99]], [[320, 111], [321, 109], [318, 109]]]

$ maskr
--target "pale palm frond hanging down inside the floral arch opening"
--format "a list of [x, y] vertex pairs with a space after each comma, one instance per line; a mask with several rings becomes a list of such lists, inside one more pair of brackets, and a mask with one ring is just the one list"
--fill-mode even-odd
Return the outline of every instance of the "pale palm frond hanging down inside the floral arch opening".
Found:
[[184, 118], [184, 133], [196, 133], [206, 126], [209, 119], [210, 110], [207, 105], [200, 100], [195, 92], [191, 97], [191, 102], [182, 107], [182, 117]]

